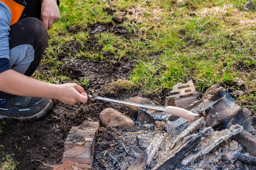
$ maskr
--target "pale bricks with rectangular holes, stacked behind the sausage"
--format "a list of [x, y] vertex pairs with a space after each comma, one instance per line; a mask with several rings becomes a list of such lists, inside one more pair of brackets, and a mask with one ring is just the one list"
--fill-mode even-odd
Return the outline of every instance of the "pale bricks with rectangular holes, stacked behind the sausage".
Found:
[[192, 80], [187, 83], [177, 83], [173, 86], [170, 96], [166, 97], [166, 106], [186, 108], [198, 100], [197, 92]]

